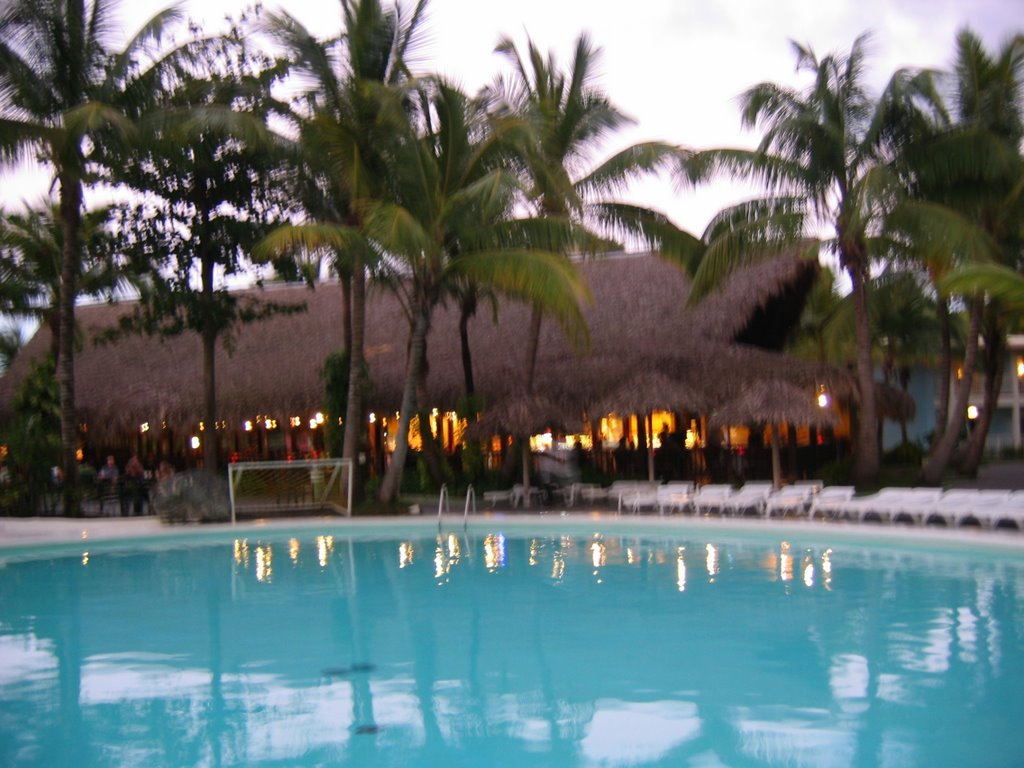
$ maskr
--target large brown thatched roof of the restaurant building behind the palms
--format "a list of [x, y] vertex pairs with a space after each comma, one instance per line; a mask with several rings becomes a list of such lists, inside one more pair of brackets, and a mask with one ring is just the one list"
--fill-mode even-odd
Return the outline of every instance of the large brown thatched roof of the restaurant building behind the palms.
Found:
[[[771, 296], [782, 288], [787, 291], [794, 280], [804, 279], [808, 262], [775, 259], [736, 275], [733, 282], [741, 287], [727, 288], [722, 294], [729, 297], [728, 311], [708, 302], [687, 310], [687, 279], [656, 256], [616, 255], [586, 261], [581, 269], [594, 297], [593, 304], [583, 310], [590, 347], [571, 348], [556, 324], [545, 321], [532, 391], [587, 410], [616, 387], [628, 387], [630, 374], [658, 372], [676, 380], [676, 386], [703, 390], [716, 401], [731, 396], [741, 382], [761, 377], [807, 387], [824, 383], [837, 395], [850, 393], [852, 379], [841, 370], [737, 345], [730, 337], [742, 332], [740, 318], [755, 317]], [[281, 419], [322, 409], [321, 369], [328, 354], [341, 346], [339, 287], [273, 286], [248, 293], [279, 303], [304, 303], [306, 311], [239, 328], [231, 335], [229, 349], [218, 347], [220, 418], [228, 422], [258, 415]], [[76, 357], [76, 398], [82, 420], [92, 431], [134, 430], [142, 422], [190, 428], [202, 413], [199, 338], [130, 337], [96, 345], [97, 334], [115, 326], [129, 308], [96, 304], [78, 310], [85, 339]], [[404, 379], [408, 322], [397, 301], [382, 290], [370, 292], [367, 313], [366, 351], [374, 384], [367, 406], [378, 412], [393, 411]], [[426, 392], [430, 407], [454, 408], [463, 394], [458, 322], [455, 307], [438, 308], [433, 319]], [[528, 326], [529, 307], [511, 301], [502, 302], [496, 313], [481, 305], [470, 323], [476, 387], [488, 402], [499, 403], [524, 390]], [[48, 336], [45, 329], [40, 330], [0, 379], [0, 409], [7, 409], [30, 365], [46, 352]], [[675, 408], [692, 404], [682, 393], [675, 399], [679, 400]], [[621, 408], [631, 404], [639, 403], [624, 399]], [[672, 406], [669, 400], [663, 404]]]

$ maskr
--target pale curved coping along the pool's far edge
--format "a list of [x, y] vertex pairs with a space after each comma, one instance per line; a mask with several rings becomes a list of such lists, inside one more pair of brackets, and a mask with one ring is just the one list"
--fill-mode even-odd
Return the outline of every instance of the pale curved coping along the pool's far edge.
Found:
[[[574, 512], [485, 512], [464, 518], [445, 515], [440, 521], [445, 530], [458, 530], [467, 524], [473, 530], [530, 530], [568, 528], [572, 532], [602, 531], [614, 534], [685, 535], [714, 534], [766, 538], [793, 538], [821, 543], [889, 545], [893, 547], [933, 547], [943, 550], [991, 551], [1024, 555], [1024, 532], [983, 530], [979, 528], [911, 527], [882, 523], [854, 523], [821, 520], [764, 520], [759, 518], [691, 517], [657, 515], [616, 515], [607, 511]], [[260, 531], [347, 528], [353, 532], [374, 532], [411, 527], [424, 531], [436, 529], [436, 515], [360, 516], [355, 518], [324, 516], [267, 519], [231, 523], [166, 524], [156, 517], [141, 518], [0, 518], [0, 548], [5, 550], [75, 543], [112, 543], [132, 540], [159, 541], [162, 538], [199, 538], [230, 535], [246, 536]], [[334, 531], [337, 532], [337, 531]]]

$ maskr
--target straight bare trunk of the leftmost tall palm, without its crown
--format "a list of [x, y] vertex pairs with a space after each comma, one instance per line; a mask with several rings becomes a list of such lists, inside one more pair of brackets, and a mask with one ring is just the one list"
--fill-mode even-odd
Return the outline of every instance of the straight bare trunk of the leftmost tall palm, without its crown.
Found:
[[63, 251], [60, 259], [58, 304], [59, 348], [56, 359], [60, 394], [60, 466], [63, 472], [65, 514], [78, 516], [75, 487], [78, 484], [78, 416], [75, 409], [75, 299], [81, 263], [79, 232], [82, 223], [82, 182], [76, 176], [60, 176], [60, 223]]

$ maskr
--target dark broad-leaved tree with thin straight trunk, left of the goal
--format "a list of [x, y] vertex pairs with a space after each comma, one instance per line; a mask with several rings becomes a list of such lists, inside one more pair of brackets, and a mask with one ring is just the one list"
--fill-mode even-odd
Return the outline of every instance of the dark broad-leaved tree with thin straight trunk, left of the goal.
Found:
[[[198, 38], [199, 30], [193, 33]], [[266, 129], [282, 109], [270, 91], [283, 73], [250, 49], [241, 26], [196, 39], [154, 91], [146, 130], [127, 152], [114, 147], [109, 160], [117, 169], [110, 180], [135, 193], [122, 209], [121, 247], [148, 270], [120, 330], [202, 339], [203, 466], [210, 473], [218, 463], [218, 340], [240, 323], [303, 308], [240, 297], [225, 284], [287, 214], [283, 165]]]

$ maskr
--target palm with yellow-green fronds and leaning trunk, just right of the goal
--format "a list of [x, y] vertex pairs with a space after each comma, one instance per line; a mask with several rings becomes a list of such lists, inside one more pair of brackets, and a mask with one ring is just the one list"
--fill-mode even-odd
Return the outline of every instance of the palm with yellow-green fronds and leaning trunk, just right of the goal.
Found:
[[381, 483], [385, 503], [401, 481], [433, 311], [453, 284], [473, 281], [535, 302], [567, 329], [583, 327], [575, 270], [534, 247], [544, 222], [512, 218], [518, 179], [498, 162], [502, 140], [487, 130], [484, 110], [442, 82], [425, 82], [420, 95], [420, 120], [410, 123], [394, 159], [394, 197], [371, 203], [366, 218], [368, 236], [393, 264], [411, 330], [396, 447]]

